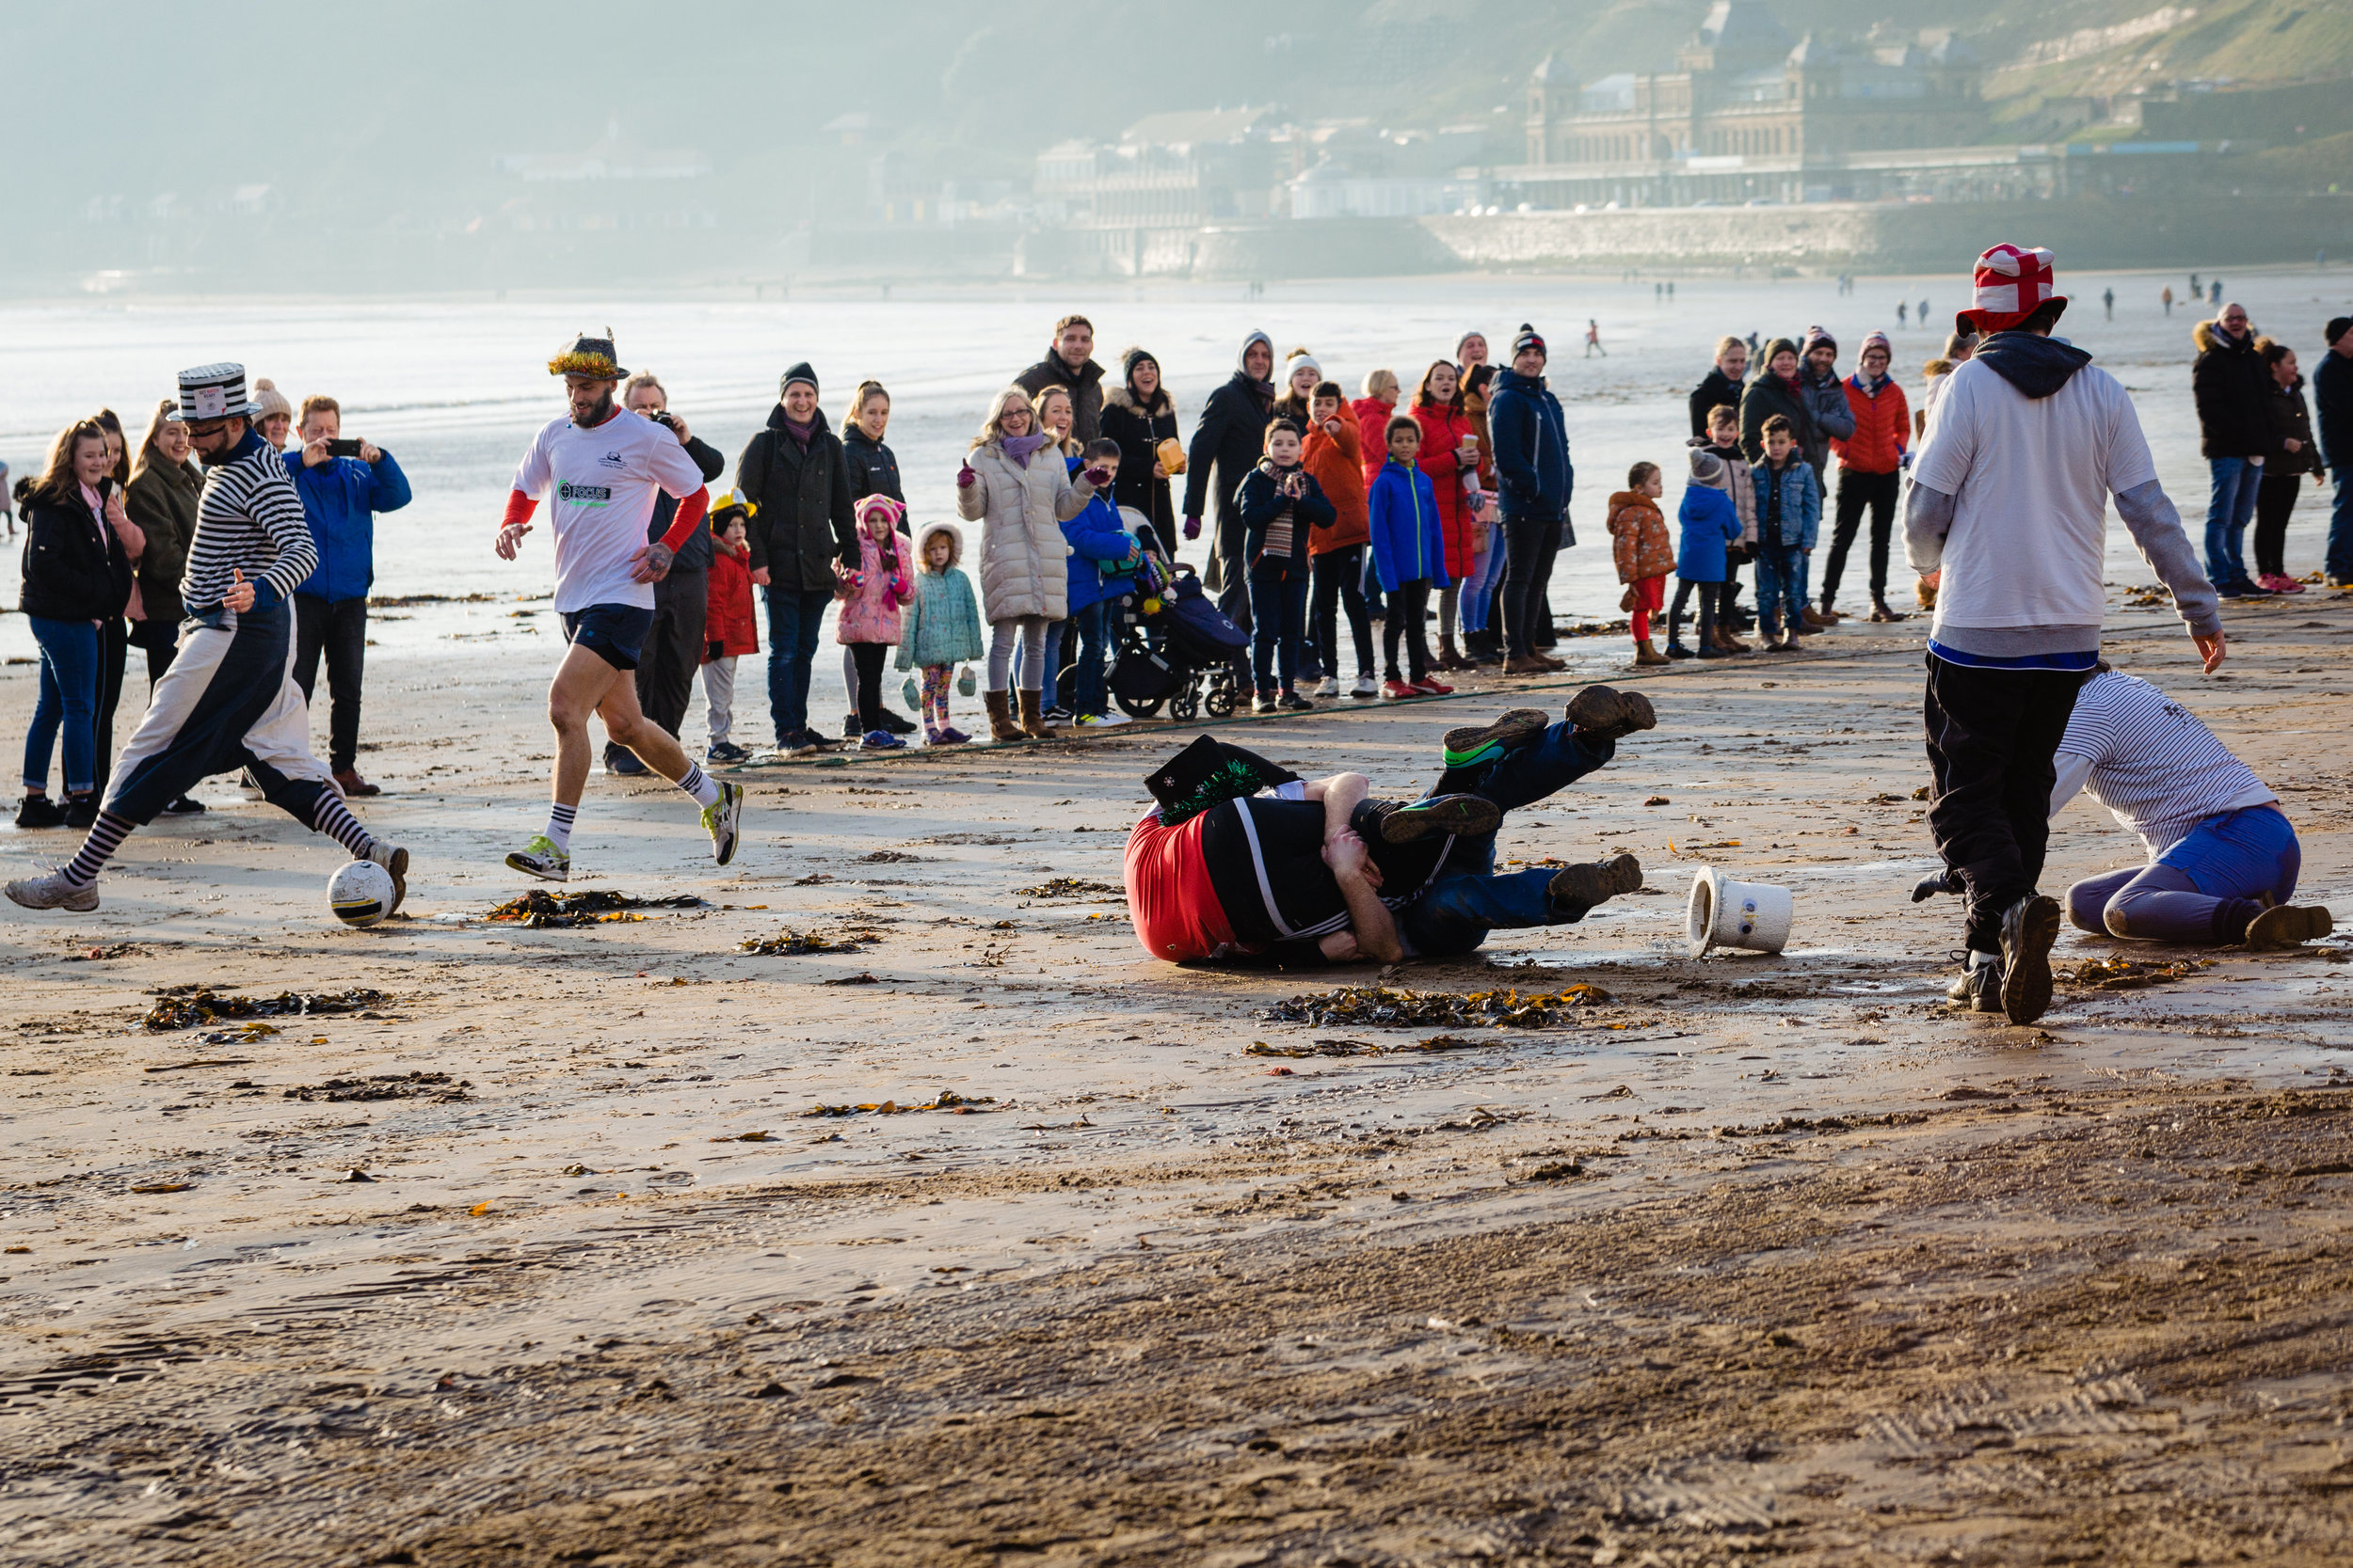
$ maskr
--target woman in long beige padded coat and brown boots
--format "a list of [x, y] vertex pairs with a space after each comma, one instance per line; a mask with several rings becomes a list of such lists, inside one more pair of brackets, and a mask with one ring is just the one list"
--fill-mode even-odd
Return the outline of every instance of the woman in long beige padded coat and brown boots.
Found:
[[1045, 672], [1045, 628], [1068, 616], [1068, 541], [1061, 524], [1087, 510], [1094, 484], [1071, 475], [1054, 437], [1038, 428], [1028, 393], [1016, 386], [988, 404], [988, 421], [955, 475], [955, 510], [981, 524], [981, 614], [988, 618], [988, 733], [993, 741], [1045, 741], [1040, 686], [1024, 686], [1014, 722], [1014, 639], [1021, 670]]

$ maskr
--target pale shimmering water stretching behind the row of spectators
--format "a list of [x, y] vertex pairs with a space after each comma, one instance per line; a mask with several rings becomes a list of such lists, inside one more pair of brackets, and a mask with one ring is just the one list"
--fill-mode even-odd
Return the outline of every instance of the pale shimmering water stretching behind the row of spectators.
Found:
[[[2068, 273], [2073, 296], [2064, 336], [2122, 378], [2141, 411], [2158, 473], [2200, 538], [2207, 473], [2198, 456], [2191, 404], [2191, 327], [2212, 308], [2158, 294], [2188, 280], [2172, 273]], [[2101, 289], [2118, 294], [2104, 320]], [[2271, 270], [2226, 277], [2261, 331], [2294, 343], [2306, 374], [2318, 367], [2322, 322], [2353, 310], [2353, 273]], [[1911, 308], [1899, 327], [1897, 303]], [[1927, 301], [1927, 310], [1920, 303]], [[1452, 357], [1466, 329], [1487, 334], [1494, 360], [1508, 357], [1513, 329], [1534, 322], [1551, 343], [1551, 386], [1569, 425], [1577, 491], [1569, 505], [1577, 545], [1553, 576], [1562, 618], [1614, 618], [1619, 585], [1602, 527], [1607, 498], [1624, 489], [1626, 468], [1647, 458], [1666, 470], [1664, 510], [1682, 494], [1685, 397], [1708, 371], [1722, 334], [1762, 341], [1802, 336], [1821, 324], [1838, 336], [1840, 371], [1854, 369], [1866, 331], [1894, 339], [1894, 374], [1918, 402], [1920, 364], [1944, 348], [1953, 310], [1967, 303], [1965, 275], [1868, 277], [1840, 294], [1831, 280], [1678, 280], [1675, 299], [1640, 280], [1586, 277], [1409, 277], [1384, 282], [1264, 284], [1021, 284], [995, 289], [908, 289], [889, 296], [824, 294], [788, 301], [741, 299], [386, 299], [386, 301], [73, 301], [0, 308], [0, 458], [14, 475], [40, 468], [68, 418], [106, 404], [122, 414], [132, 440], [174, 371], [207, 360], [240, 360], [294, 402], [329, 393], [344, 404], [344, 435], [367, 437], [400, 458], [416, 498], [376, 520], [379, 595], [546, 595], [553, 585], [548, 529], [518, 562], [492, 552], [515, 463], [532, 435], [562, 414], [562, 388], [546, 362], [576, 331], [607, 327], [621, 362], [649, 369], [671, 393], [671, 409], [694, 435], [734, 458], [776, 402], [784, 367], [807, 360], [824, 386], [821, 407], [838, 428], [852, 388], [882, 381], [892, 393], [889, 444], [899, 454], [915, 522], [955, 517], [955, 468], [991, 395], [1047, 348], [1068, 310], [1096, 329], [1096, 360], [1118, 378], [1118, 355], [1146, 346], [1176, 395], [1191, 433], [1202, 400], [1233, 371], [1245, 331], [1264, 327], [1278, 357], [1297, 346], [1315, 353], [1329, 381], [1358, 395], [1365, 371], [1386, 367], [1407, 395], [1431, 362]], [[1922, 327], [1925, 317], [1925, 327]], [[1584, 346], [1586, 322], [1600, 350]], [[1280, 376], [1280, 364], [1278, 371]], [[1833, 470], [1835, 487], [1835, 470]], [[1181, 501], [1181, 491], [1179, 491]], [[1207, 508], [1205, 508], [1207, 510]], [[2325, 491], [2311, 491], [2289, 529], [2289, 569], [2320, 564]], [[1819, 592], [1828, 522], [1814, 552]], [[976, 555], [967, 529], [967, 569]], [[1184, 548], [1200, 562], [1207, 538]], [[2249, 541], [2252, 552], [2252, 541]], [[1908, 602], [1901, 520], [1889, 597]], [[2113, 583], [2146, 583], [2122, 527], [2111, 529]], [[12, 595], [9, 595], [12, 597]], [[1868, 538], [1845, 569], [1840, 602], [1868, 602]], [[496, 611], [504, 614], [504, 611]], [[468, 654], [447, 616], [419, 616], [372, 630], [381, 644], [433, 644]], [[0, 618], [0, 654], [33, 654], [21, 616]], [[1348, 663], [1348, 656], [1341, 656]]]

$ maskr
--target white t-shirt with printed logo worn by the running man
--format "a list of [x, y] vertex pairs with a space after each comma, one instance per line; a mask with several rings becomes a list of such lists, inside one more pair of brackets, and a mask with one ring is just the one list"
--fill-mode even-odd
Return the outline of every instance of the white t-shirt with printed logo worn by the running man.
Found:
[[515, 489], [548, 503], [555, 531], [555, 609], [635, 604], [654, 609], [654, 585], [628, 578], [654, 522], [654, 491], [685, 501], [704, 473], [668, 425], [614, 414], [595, 430], [558, 418], [532, 440]]

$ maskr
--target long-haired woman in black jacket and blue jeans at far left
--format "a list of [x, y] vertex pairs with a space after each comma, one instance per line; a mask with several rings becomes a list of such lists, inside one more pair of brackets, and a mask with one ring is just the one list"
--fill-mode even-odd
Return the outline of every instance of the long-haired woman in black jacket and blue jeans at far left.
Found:
[[[19, 827], [87, 827], [96, 820], [96, 715], [106, 623], [132, 597], [122, 491], [106, 428], [82, 418], [59, 433], [49, 468], [26, 494], [24, 614], [40, 644], [40, 701], [24, 736]], [[49, 752], [66, 731], [66, 804], [49, 799]]]

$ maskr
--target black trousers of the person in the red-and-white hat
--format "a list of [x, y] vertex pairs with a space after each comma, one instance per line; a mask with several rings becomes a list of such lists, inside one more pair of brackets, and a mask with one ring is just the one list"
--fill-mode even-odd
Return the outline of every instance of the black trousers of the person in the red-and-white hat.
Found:
[[1979, 670], [1927, 656], [1927, 827], [1967, 889], [1972, 952], [2002, 950], [2002, 910], [2035, 891], [2057, 755], [2089, 670]]

